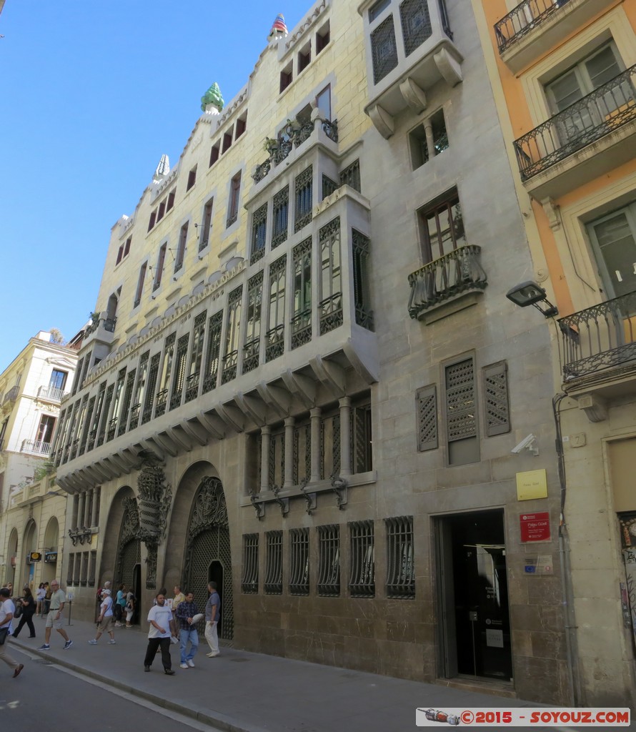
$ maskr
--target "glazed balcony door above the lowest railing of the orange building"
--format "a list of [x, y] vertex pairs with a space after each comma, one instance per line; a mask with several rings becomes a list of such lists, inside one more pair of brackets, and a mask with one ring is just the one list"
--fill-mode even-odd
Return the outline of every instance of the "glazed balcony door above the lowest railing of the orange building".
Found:
[[588, 224], [603, 285], [610, 298], [636, 290], [636, 203]]

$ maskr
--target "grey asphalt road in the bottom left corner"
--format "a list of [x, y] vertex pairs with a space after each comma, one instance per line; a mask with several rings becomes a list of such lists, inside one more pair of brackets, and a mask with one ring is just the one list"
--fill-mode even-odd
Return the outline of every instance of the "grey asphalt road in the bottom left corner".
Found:
[[[16, 646], [12, 645], [11, 654], [24, 664], [24, 670], [13, 679], [9, 666], [0, 662], [0, 720], [4, 730], [175, 732], [175, 725], [206, 732], [217, 729], [135, 700], [130, 694], [26, 654]], [[162, 676], [160, 680], [170, 684], [173, 679]]]

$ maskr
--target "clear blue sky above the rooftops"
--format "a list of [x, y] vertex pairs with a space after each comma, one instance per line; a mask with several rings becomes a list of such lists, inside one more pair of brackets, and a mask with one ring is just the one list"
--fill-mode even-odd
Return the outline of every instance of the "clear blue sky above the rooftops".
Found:
[[176, 163], [217, 81], [242, 88], [277, 13], [312, 0], [7, 0], [0, 15], [0, 373], [93, 310], [111, 226]]

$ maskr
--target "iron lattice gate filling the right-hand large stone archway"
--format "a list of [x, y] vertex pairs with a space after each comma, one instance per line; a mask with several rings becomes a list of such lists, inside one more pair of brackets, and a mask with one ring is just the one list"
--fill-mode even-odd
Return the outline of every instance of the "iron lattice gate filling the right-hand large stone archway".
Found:
[[[232, 592], [232, 555], [228, 529], [228, 509], [223, 487], [218, 478], [206, 477], [201, 481], [190, 511], [183, 576], [187, 586], [194, 589], [195, 602], [203, 609], [208, 600], [207, 586], [214, 566], [220, 567], [222, 580], [217, 581], [221, 597], [219, 637], [233, 638], [234, 613]], [[199, 630], [203, 630], [203, 621]]]

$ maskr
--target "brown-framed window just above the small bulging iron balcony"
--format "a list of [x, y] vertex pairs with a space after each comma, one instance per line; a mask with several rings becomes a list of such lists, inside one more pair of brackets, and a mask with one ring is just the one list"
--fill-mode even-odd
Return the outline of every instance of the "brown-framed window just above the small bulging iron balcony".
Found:
[[424, 264], [465, 246], [462, 211], [456, 190], [418, 213]]

